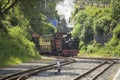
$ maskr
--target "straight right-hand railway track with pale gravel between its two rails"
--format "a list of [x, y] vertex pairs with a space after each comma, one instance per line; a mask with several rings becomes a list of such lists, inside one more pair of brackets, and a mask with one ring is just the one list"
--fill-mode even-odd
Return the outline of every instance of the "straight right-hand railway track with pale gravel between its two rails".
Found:
[[109, 69], [113, 64], [115, 64], [114, 61], [111, 63], [108, 63], [108, 61], [104, 61], [103, 63], [90, 69], [89, 71], [77, 76], [73, 80], [84, 80], [84, 79], [85, 80], [96, 80], [102, 73], [104, 73], [107, 69]]

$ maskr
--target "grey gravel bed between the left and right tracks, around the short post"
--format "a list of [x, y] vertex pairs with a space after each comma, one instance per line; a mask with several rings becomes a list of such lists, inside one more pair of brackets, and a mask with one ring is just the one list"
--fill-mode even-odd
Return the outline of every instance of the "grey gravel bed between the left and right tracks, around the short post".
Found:
[[55, 75], [57, 69], [49, 70], [32, 76], [27, 80], [72, 80], [76, 76], [87, 72], [89, 69], [99, 65], [102, 61], [96, 60], [82, 60], [78, 59], [77, 62], [62, 66], [61, 74]]

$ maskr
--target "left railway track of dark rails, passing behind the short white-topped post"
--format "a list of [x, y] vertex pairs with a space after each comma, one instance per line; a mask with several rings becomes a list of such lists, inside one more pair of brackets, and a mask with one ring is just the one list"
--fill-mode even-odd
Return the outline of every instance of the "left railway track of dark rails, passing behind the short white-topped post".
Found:
[[[64, 61], [60, 62], [60, 65], [64, 66], [64, 65], [67, 65], [67, 64], [70, 64], [70, 63], [73, 63], [73, 62], [75, 62], [75, 60], [73, 60], [73, 59], [64, 60]], [[53, 69], [53, 68], [57, 68], [56, 63], [50, 64], [50, 65], [47, 65], [47, 66], [42, 66], [42, 67], [35, 68], [35, 69], [29, 69], [29, 70], [22, 71], [22, 72], [19, 72], [19, 73], [4, 75], [4, 76], [0, 77], [0, 80], [25, 80], [26, 78], [28, 78], [32, 75], [36, 75], [39, 72], [43, 72], [43, 71], [50, 70], [50, 69]]]

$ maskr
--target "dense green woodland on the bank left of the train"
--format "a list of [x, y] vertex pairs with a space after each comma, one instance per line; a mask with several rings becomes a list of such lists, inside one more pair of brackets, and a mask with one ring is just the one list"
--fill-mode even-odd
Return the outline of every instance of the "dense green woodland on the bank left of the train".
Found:
[[54, 33], [48, 19], [57, 19], [62, 0], [0, 0], [0, 66], [40, 58], [31, 35]]

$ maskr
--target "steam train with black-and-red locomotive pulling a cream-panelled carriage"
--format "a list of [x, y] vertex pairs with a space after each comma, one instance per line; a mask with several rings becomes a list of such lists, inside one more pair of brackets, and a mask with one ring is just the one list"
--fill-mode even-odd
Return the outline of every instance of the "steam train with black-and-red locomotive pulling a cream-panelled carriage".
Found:
[[70, 33], [32, 35], [32, 41], [41, 55], [74, 56], [79, 53], [79, 39]]

